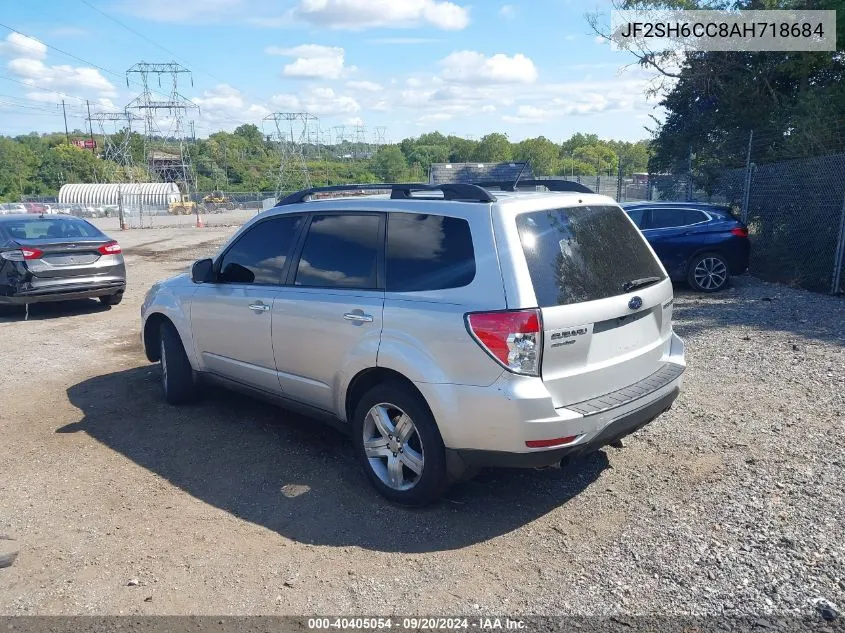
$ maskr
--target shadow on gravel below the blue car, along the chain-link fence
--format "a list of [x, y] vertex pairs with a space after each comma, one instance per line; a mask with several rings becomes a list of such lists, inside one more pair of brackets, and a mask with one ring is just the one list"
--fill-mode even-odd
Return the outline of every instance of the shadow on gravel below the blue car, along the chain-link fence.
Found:
[[714, 294], [676, 285], [673, 320], [681, 337], [747, 327], [845, 346], [845, 299], [747, 275], [732, 278], [727, 290]]

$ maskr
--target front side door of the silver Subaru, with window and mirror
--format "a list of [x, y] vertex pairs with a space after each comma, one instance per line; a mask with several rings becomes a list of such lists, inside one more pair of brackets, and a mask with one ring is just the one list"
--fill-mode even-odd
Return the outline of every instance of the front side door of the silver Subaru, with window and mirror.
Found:
[[208, 371], [279, 393], [272, 311], [303, 224], [279, 215], [252, 225], [215, 262], [215, 282], [197, 286], [191, 329]]

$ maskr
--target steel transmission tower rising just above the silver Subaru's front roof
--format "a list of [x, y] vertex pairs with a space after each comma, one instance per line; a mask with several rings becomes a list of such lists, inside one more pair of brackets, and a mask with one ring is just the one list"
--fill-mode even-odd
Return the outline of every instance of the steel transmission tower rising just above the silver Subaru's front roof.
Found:
[[308, 145], [314, 138], [317, 138], [319, 146], [319, 119], [307, 112], [274, 112], [264, 117], [264, 121], [273, 123], [272, 136], [279, 144], [276, 197], [310, 188], [311, 174], [305, 158]]

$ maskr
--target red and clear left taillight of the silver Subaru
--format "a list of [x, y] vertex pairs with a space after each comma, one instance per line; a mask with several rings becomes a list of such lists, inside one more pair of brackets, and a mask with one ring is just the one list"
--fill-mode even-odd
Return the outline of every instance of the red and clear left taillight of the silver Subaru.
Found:
[[466, 320], [476, 342], [506, 369], [540, 375], [543, 340], [539, 310], [475, 312]]

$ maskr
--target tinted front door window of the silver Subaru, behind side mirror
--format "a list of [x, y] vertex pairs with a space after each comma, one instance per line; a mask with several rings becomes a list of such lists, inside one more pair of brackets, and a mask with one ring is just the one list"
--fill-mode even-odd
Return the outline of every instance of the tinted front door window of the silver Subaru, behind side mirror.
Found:
[[290, 256], [302, 216], [287, 215], [249, 228], [220, 262], [223, 283], [278, 284]]

